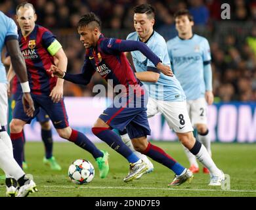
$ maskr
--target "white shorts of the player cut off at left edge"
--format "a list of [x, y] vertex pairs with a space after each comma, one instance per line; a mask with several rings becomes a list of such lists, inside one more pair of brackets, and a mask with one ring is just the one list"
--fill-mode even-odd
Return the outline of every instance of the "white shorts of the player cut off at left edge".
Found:
[[0, 83], [0, 125], [7, 125], [8, 96], [7, 84]]

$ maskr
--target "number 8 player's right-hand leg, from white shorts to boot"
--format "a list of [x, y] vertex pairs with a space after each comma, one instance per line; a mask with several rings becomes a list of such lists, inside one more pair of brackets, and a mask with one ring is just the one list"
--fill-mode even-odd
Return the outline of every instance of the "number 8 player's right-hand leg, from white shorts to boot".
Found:
[[193, 128], [188, 117], [185, 102], [171, 102], [172, 109], [165, 112], [165, 115], [170, 117], [170, 125], [177, 134], [181, 143], [190, 150], [194, 156], [207, 167], [211, 173], [210, 185], [221, 185], [224, 180], [223, 172], [217, 168], [211, 156], [207, 152], [205, 146], [193, 136]]

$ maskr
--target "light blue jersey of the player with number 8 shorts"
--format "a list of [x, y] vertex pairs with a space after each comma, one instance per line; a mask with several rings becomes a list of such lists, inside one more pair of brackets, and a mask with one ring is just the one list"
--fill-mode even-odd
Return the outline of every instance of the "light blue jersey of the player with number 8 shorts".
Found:
[[[127, 36], [127, 40], [139, 41], [139, 36], [137, 32], [130, 33]], [[171, 66], [167, 46], [165, 39], [154, 31], [150, 39], [145, 43], [162, 61], [163, 64]], [[135, 70], [137, 72], [146, 72], [147, 68], [156, 68], [154, 64], [140, 53], [140, 51], [131, 52], [133, 57], [133, 64], [135, 65]], [[148, 89], [149, 96], [157, 100], [167, 100], [167, 101], [184, 101], [186, 96], [182, 90], [181, 84], [176, 79], [175, 76], [169, 77], [164, 74], [160, 74], [160, 77], [156, 83], [142, 82], [146, 89]]]

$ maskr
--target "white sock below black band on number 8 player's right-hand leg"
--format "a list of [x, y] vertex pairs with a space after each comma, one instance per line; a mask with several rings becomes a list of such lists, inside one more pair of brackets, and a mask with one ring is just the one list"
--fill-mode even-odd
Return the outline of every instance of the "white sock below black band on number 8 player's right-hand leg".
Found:
[[221, 170], [217, 168], [217, 166], [213, 162], [213, 159], [211, 159], [211, 156], [209, 155], [203, 144], [198, 154], [196, 154], [196, 158], [203, 164], [203, 166], [207, 167], [207, 169], [210, 171], [212, 175], [221, 174]]

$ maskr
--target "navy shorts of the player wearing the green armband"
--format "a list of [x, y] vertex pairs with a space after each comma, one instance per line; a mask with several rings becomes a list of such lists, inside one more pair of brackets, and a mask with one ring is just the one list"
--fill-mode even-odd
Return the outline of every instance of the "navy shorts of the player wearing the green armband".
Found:
[[[56, 129], [64, 129], [68, 127], [68, 115], [66, 113], [66, 108], [63, 98], [58, 103], [54, 103], [50, 96], [46, 95], [33, 95], [33, 102], [35, 105], [34, 117], [38, 114], [37, 121], [43, 122], [45, 119], [49, 118], [53, 122]], [[43, 110], [40, 114], [40, 110]], [[28, 117], [23, 110], [22, 97], [19, 97], [16, 101], [14, 110], [12, 111], [12, 119], [21, 119], [30, 123], [33, 117]], [[47, 120], [46, 120], [47, 121]]]

